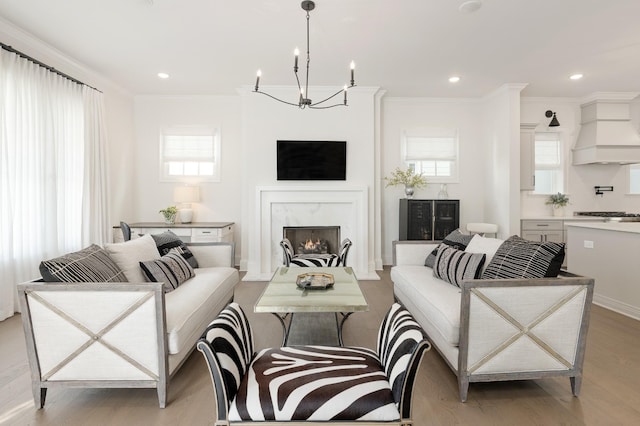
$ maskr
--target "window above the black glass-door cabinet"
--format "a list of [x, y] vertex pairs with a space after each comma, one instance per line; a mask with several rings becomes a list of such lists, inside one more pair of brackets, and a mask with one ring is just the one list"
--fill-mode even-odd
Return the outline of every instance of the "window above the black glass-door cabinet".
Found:
[[436, 128], [405, 131], [402, 159], [429, 182], [457, 182], [458, 131]]

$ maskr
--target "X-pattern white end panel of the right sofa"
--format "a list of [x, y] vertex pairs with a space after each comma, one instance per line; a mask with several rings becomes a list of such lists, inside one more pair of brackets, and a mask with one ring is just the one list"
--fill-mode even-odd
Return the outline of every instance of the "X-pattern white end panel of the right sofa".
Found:
[[565, 375], [577, 395], [582, 377], [594, 280], [470, 280], [462, 284], [460, 396], [469, 381]]

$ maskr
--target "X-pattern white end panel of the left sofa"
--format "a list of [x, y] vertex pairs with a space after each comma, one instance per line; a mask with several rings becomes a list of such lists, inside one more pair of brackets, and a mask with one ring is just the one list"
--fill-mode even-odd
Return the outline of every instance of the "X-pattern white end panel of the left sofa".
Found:
[[153, 387], [168, 380], [162, 283], [18, 285], [36, 406], [49, 387]]

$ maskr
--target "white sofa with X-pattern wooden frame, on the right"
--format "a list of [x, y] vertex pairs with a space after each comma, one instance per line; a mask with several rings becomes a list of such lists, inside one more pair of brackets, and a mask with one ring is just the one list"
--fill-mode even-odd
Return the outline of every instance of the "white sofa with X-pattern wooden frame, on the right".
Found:
[[473, 279], [458, 288], [424, 266], [437, 243], [393, 245], [394, 296], [457, 375], [461, 401], [470, 382], [549, 376], [569, 377], [578, 395], [593, 279], [562, 272], [558, 278]]

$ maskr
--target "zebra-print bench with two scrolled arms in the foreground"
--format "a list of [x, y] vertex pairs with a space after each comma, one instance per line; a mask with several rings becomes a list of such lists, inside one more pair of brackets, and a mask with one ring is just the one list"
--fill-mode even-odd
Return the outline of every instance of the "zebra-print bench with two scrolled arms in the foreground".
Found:
[[197, 348], [211, 373], [217, 426], [302, 421], [411, 425], [413, 385], [431, 345], [396, 303], [382, 321], [376, 351], [291, 346], [254, 353], [249, 322], [231, 303], [207, 327]]

